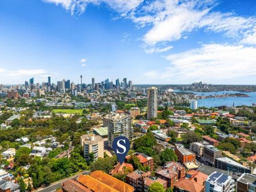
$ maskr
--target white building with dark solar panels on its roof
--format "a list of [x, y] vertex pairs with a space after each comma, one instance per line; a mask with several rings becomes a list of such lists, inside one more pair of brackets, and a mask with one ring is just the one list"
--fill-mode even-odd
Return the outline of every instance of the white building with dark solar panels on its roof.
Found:
[[205, 181], [205, 192], [233, 192], [234, 180], [224, 173], [213, 172]]

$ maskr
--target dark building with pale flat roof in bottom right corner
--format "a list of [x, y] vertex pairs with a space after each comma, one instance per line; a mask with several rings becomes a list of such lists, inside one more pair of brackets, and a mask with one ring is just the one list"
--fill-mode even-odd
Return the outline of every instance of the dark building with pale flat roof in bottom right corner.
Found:
[[255, 192], [256, 191], [256, 176], [249, 173], [243, 173], [237, 179], [237, 192]]

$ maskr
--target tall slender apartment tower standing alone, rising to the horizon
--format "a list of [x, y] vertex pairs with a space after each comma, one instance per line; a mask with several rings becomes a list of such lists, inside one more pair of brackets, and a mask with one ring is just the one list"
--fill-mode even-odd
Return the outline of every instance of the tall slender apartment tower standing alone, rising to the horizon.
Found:
[[158, 88], [151, 87], [147, 89], [147, 119], [158, 116]]

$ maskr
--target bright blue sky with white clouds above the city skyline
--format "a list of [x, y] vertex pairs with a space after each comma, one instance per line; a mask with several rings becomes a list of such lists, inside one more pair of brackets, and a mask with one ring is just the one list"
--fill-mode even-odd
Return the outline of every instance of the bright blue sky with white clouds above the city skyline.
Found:
[[0, 84], [255, 84], [253, 0], [2, 0]]

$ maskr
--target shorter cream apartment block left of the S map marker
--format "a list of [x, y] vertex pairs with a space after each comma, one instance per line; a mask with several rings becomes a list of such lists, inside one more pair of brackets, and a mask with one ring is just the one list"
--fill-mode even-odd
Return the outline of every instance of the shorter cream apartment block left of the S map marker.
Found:
[[101, 136], [91, 133], [89, 135], [82, 135], [80, 137], [80, 144], [86, 161], [90, 160], [90, 153], [93, 153], [93, 161], [96, 161], [98, 157], [104, 158], [104, 140]]

